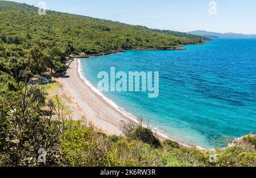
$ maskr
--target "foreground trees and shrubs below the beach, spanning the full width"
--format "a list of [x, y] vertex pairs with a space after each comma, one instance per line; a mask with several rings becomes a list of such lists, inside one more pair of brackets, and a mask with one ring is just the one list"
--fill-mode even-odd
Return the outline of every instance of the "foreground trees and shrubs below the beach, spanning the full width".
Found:
[[[46, 116], [43, 87], [17, 85], [24, 89], [0, 95], [0, 166], [256, 166], [253, 135], [216, 152], [160, 142], [141, 124], [123, 123], [125, 136], [107, 136], [86, 120], [63, 120], [58, 101], [47, 102]], [[39, 149], [47, 152], [45, 163]]]

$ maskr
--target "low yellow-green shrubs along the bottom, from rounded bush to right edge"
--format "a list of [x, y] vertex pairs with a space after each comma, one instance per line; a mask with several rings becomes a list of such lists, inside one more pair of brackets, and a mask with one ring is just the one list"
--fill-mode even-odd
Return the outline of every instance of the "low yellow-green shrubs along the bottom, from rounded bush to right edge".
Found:
[[68, 166], [226, 167], [256, 164], [256, 153], [246, 152], [240, 146], [217, 149], [217, 162], [210, 163], [208, 159], [212, 152], [181, 145], [174, 148], [168, 144], [175, 142], [168, 140], [156, 149], [130, 137], [102, 136], [85, 126], [71, 129], [64, 135], [61, 145], [68, 155]]

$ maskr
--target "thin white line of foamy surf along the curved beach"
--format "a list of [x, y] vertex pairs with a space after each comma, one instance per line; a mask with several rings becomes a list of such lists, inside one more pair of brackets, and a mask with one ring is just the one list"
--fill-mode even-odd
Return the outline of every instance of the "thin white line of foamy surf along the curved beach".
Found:
[[[114, 103], [113, 100], [107, 98], [104, 94], [102, 94], [102, 92], [100, 92], [96, 87], [93, 86], [92, 83], [89, 82], [88, 79], [86, 79], [86, 77], [83, 74], [84, 69], [82, 68], [82, 63], [80, 59], [77, 59], [77, 62], [79, 63], [78, 66], [78, 73], [79, 73], [79, 77], [84, 80], [85, 84], [91, 88], [91, 90], [93, 92], [95, 92], [98, 96], [100, 96], [102, 99], [104, 99], [107, 103], [109, 103], [114, 109], [116, 109], [119, 113], [121, 113], [123, 116], [130, 118], [132, 121], [137, 122], [137, 117], [135, 117], [134, 115], [132, 115], [129, 112], [126, 112], [124, 108], [119, 107], [117, 104]], [[146, 126], [146, 125], [144, 125]], [[152, 127], [152, 132], [158, 134], [160, 137], [162, 138], [166, 138], [166, 139], [171, 139], [172, 141], [176, 141], [174, 139], [172, 139], [171, 137], [167, 136], [167, 134], [164, 134], [162, 132], [162, 130], [160, 131], [158, 128], [156, 128], [155, 126], [151, 126]], [[177, 142], [177, 141], [176, 141]], [[189, 143], [182, 143], [182, 142], [178, 142], [180, 145], [186, 146], [186, 147], [190, 147], [192, 145], [190, 145]]]

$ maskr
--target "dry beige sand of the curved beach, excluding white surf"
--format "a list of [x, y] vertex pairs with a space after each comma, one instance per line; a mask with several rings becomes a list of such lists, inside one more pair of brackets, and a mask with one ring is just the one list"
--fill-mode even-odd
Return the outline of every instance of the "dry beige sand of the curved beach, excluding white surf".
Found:
[[[130, 118], [125, 117], [101, 96], [92, 91], [80, 78], [78, 67], [78, 60], [74, 59], [67, 70], [67, 78], [59, 80], [63, 86], [64, 94], [68, 95], [79, 106], [80, 113], [101, 132], [108, 135], [120, 135], [122, 133], [119, 128], [121, 121], [128, 122]], [[74, 119], [78, 120], [80, 118]]]

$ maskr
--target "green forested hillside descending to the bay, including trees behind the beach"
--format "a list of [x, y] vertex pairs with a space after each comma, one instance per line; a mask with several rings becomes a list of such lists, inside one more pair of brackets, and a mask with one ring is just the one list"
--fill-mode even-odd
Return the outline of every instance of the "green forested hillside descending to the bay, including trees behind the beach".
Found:
[[[0, 1], [0, 70], [19, 78], [22, 62], [31, 74], [65, 70], [69, 54], [97, 54], [121, 49], [175, 49], [202, 43], [204, 37], [166, 34], [142, 26], [47, 11]], [[16, 65], [14, 66], [13, 63]], [[14, 69], [15, 68], [15, 69]]]

